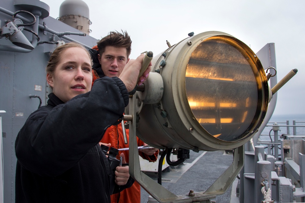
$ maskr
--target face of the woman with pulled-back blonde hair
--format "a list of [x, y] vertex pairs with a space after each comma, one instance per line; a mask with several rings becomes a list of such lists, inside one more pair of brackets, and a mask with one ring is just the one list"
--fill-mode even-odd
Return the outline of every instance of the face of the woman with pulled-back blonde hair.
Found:
[[63, 102], [89, 92], [92, 84], [91, 59], [79, 47], [71, 47], [60, 55], [54, 74], [47, 74], [53, 93]]

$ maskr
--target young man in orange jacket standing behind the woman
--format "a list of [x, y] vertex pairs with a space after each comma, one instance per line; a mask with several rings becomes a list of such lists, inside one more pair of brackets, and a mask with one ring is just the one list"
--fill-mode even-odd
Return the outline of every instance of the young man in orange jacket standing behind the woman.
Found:
[[[93, 82], [97, 78], [118, 77], [123, 71], [126, 63], [129, 60], [131, 52], [131, 39], [127, 32], [110, 32], [109, 35], [102, 38], [97, 46], [89, 50], [93, 59], [92, 73]], [[129, 137], [129, 130], [126, 129], [127, 139]], [[138, 146], [143, 146], [145, 143], [138, 140]], [[102, 143], [111, 143], [111, 147], [120, 149], [129, 147], [124, 143], [122, 125], [110, 126], [101, 140]], [[129, 161], [129, 151], [124, 152], [125, 160]], [[119, 152], [119, 155], [120, 156]], [[158, 149], [151, 148], [139, 151], [142, 158], [148, 161], [156, 161], [158, 157]], [[140, 203], [141, 189], [138, 183], [134, 183], [130, 188], [127, 188], [120, 193], [111, 195], [112, 203]]]

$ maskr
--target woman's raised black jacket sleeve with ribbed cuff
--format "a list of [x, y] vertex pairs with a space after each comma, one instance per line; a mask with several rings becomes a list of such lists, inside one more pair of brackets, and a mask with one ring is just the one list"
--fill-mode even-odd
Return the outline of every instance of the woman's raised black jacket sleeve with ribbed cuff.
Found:
[[122, 117], [128, 92], [119, 78], [97, 79], [91, 92], [32, 114], [15, 143], [27, 170], [55, 177], [72, 168]]

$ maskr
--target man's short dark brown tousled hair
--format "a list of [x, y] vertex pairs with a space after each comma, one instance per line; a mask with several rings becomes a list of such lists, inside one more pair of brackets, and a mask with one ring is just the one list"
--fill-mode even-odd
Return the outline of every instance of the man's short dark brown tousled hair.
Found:
[[131, 53], [131, 39], [126, 31], [122, 31], [122, 33], [118, 31], [111, 31], [106, 37], [103, 37], [98, 43], [97, 47], [99, 48], [99, 55], [105, 52], [106, 46], [113, 46], [117, 48], [126, 48], [127, 50], [127, 58]]

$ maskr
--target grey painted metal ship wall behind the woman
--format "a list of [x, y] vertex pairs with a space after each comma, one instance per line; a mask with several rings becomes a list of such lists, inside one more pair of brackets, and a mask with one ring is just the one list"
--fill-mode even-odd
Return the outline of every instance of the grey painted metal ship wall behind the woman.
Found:
[[[35, 2], [38, 0], [30, 0]], [[21, 10], [20, 7], [13, 5], [15, 1], [2, 0], [0, 7], [15, 12]], [[29, 2], [29, 1], [27, 1]], [[25, 9], [22, 9], [25, 10]], [[27, 16], [22, 15], [22, 16]], [[29, 19], [31, 17], [29, 16]], [[5, 20], [12, 20], [3, 12], [0, 12], [1, 27], [5, 25]], [[46, 17], [39, 19], [39, 24], [45, 24], [48, 28], [63, 32], [79, 32], [78, 30], [52, 18]], [[28, 27], [31, 29], [31, 27]], [[31, 41], [32, 34], [23, 31]], [[53, 36], [50, 32], [39, 29], [40, 41], [49, 41]], [[96, 45], [97, 40], [90, 36], [69, 35], [89, 47]], [[66, 39], [55, 37], [56, 40]], [[0, 38], [0, 45], [13, 45], [8, 39]], [[39, 106], [38, 98], [30, 98], [29, 95], [38, 95], [42, 100], [42, 105], [46, 103], [46, 72], [45, 67], [49, 59], [49, 54], [55, 49], [54, 44], [38, 45], [30, 53], [18, 53], [10, 51], [0, 51], [0, 110], [6, 111], [1, 113], [2, 116], [2, 140], [3, 140], [3, 173], [4, 173], [4, 202], [15, 202], [15, 140], [16, 136], [25, 123], [26, 119]], [[35, 85], [42, 87], [41, 91], [35, 90]], [[21, 113], [21, 114], [20, 114]]]

